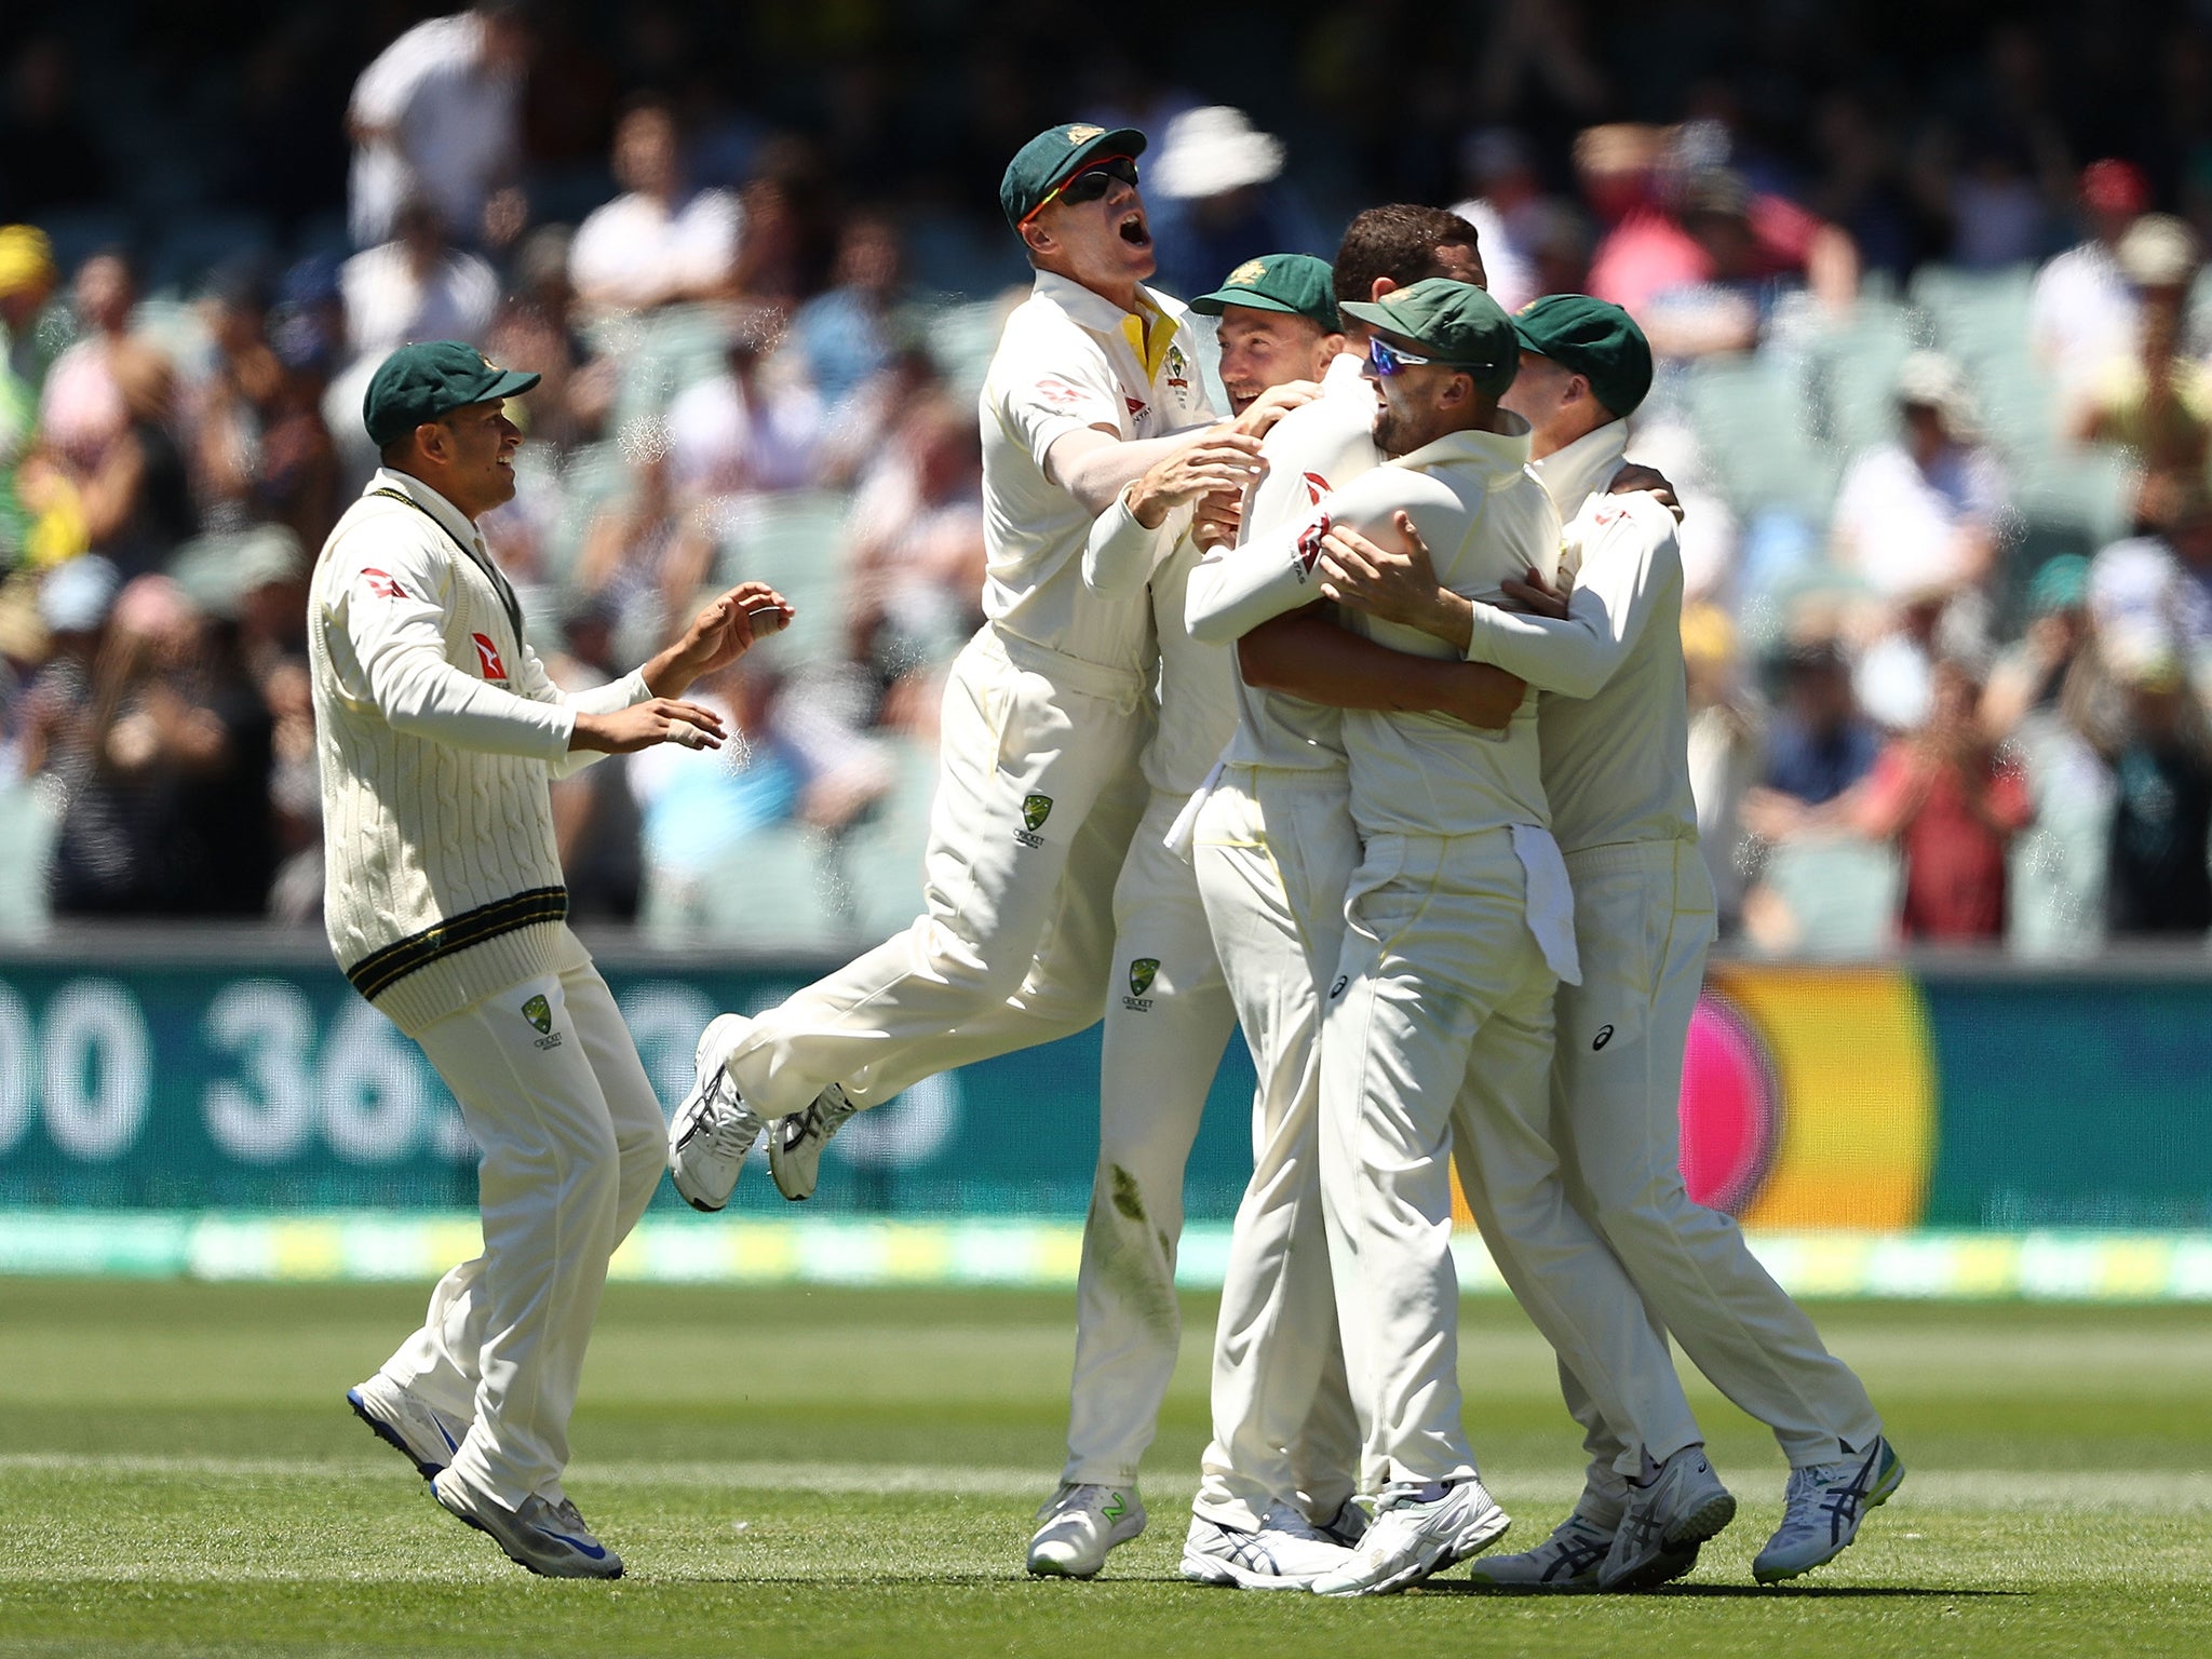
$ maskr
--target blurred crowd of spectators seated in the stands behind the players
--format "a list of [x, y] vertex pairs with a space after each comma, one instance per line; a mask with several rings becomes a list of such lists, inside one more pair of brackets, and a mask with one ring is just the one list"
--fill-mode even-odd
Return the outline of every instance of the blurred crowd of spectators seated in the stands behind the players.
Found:
[[[0, 931], [319, 918], [305, 571], [374, 465], [369, 372], [438, 336], [544, 374], [484, 531], [557, 679], [622, 672], [714, 584], [801, 608], [701, 688], [726, 757], [557, 787], [577, 914], [763, 949], [902, 925], [1022, 281], [991, 186], [1066, 115], [1152, 135], [1170, 292], [1402, 197], [1478, 226], [1509, 307], [1639, 316], [1632, 453], [1688, 509], [1692, 774], [1741, 949], [2212, 927], [2212, 31], [2185, 11], [1940, 15], [1900, 62], [1867, 7], [1728, 44], [1701, 11], [1495, 0], [1385, 97], [1416, 9], [1292, 7], [1279, 97], [1225, 75], [1241, 106], [1197, 53], [1040, 88], [1035, 20], [958, 60], [991, 97], [951, 106], [902, 73], [920, 24], [869, 7], [761, 9], [796, 102], [677, 4], [604, 49], [584, 7], [385, 7], [349, 24], [374, 40], [261, 11], [184, 206], [95, 135], [97, 51], [7, 62]], [[2124, 24], [2157, 53], [2115, 60]], [[785, 902], [743, 907], [737, 867]]]

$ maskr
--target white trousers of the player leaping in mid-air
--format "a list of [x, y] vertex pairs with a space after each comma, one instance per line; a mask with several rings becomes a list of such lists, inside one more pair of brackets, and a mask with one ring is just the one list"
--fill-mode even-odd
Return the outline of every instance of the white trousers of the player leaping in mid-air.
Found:
[[799, 1113], [827, 1084], [880, 1106], [1093, 1024], [1150, 732], [1137, 675], [987, 624], [945, 686], [922, 916], [752, 1020], [726, 1060], [752, 1108]]

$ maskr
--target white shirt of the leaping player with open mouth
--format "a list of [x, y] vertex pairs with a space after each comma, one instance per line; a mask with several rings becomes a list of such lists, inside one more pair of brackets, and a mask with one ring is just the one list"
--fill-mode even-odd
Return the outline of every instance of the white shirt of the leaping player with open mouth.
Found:
[[1181, 301], [1137, 290], [1124, 312], [1082, 283], [1040, 270], [1006, 319], [982, 385], [982, 611], [995, 628], [1066, 657], [1139, 672], [1152, 653], [1144, 588], [1084, 591], [1093, 513], [1044, 473], [1071, 431], [1161, 438], [1206, 420], [1197, 345]]

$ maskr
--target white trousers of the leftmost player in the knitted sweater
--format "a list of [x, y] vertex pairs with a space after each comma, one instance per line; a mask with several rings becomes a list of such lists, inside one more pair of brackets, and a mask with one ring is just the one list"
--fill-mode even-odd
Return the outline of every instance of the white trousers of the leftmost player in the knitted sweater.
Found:
[[383, 1365], [440, 1411], [473, 1418], [453, 1464], [509, 1509], [562, 1498], [606, 1259], [668, 1168], [668, 1121], [630, 1029], [575, 936], [564, 953], [557, 973], [418, 1037], [480, 1150], [484, 1252], [438, 1281], [422, 1329]]

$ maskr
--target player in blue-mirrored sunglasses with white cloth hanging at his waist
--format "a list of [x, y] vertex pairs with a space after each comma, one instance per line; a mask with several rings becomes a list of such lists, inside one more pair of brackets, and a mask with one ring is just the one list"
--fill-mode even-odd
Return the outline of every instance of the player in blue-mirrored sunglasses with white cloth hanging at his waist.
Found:
[[[1431, 546], [1451, 549], [1440, 580], [1462, 595], [1500, 593], [1520, 575], [1515, 560], [1546, 575], [1557, 566], [1557, 513], [1526, 476], [1528, 427], [1498, 407], [1517, 347], [1495, 301], [1427, 281], [1347, 314], [1376, 330], [1376, 442], [1398, 460], [1290, 533], [1241, 549], [1221, 604], [1230, 628], [1314, 595], [1321, 542], [1338, 522], [1396, 535], [1394, 513], [1409, 513]], [[1422, 648], [1411, 628], [1367, 626]], [[1690, 1453], [1677, 1469], [1703, 1471], [1668, 1480], [1666, 1515], [1677, 1533], [1710, 1535], [1734, 1500], [1697, 1453], [1679, 1385], [1655, 1374], [1652, 1354], [1666, 1367], [1650, 1325], [1617, 1316], [1632, 1290], [1568, 1210], [1544, 1139], [1551, 995], [1579, 969], [1533, 708], [1502, 734], [1352, 710], [1343, 737], [1360, 867], [1325, 1004], [1321, 1168], [1365, 1480], [1380, 1500], [1356, 1559], [1314, 1590], [1396, 1590], [1506, 1526], [1460, 1427], [1447, 1152], [1531, 1318], [1577, 1356], [1615, 1420], [1635, 1425], [1628, 1469], [1663, 1478], [1674, 1453]]]

